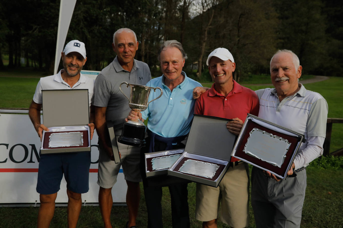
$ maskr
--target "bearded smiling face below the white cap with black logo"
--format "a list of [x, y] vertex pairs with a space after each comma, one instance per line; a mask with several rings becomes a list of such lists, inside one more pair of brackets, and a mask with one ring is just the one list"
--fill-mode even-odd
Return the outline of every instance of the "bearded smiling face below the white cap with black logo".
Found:
[[70, 52], [67, 55], [62, 52], [63, 68], [71, 77], [79, 75], [86, 61], [87, 58], [83, 58], [78, 52]]

